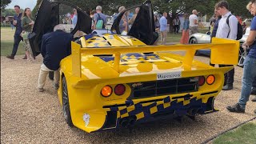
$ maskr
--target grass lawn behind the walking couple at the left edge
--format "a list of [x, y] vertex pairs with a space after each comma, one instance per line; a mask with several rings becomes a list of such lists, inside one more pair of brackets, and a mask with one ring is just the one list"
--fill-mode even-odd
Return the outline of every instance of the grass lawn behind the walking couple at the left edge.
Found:
[[[1, 56], [11, 54], [14, 46], [14, 32], [10, 27], [1, 27]], [[17, 54], [25, 54], [22, 41], [19, 43]]]

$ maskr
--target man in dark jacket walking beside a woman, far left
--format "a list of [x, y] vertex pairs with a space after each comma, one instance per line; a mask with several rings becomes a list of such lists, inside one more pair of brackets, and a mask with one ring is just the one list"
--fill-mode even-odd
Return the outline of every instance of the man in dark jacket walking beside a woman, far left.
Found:
[[[19, 42], [23, 41], [23, 38], [21, 37], [22, 34], [22, 13], [20, 12], [20, 7], [19, 6], [14, 6], [14, 10], [15, 10], [15, 15], [14, 15], [14, 26], [16, 26], [16, 30], [14, 33], [14, 46], [13, 46], [13, 50], [12, 53], [10, 55], [7, 55], [6, 58], [10, 58], [10, 59], [14, 59], [17, 50], [18, 50], [18, 44]], [[25, 59], [25, 58], [23, 58]]]

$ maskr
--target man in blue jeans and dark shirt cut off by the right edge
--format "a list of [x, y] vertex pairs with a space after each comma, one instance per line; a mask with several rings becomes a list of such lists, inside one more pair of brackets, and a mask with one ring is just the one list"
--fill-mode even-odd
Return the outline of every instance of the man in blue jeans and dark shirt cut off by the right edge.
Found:
[[[254, 18], [250, 25], [250, 34], [242, 45], [244, 50], [250, 49], [243, 62], [242, 90], [238, 103], [226, 107], [227, 110], [234, 113], [245, 113], [246, 102], [249, 100], [252, 83], [256, 77], [256, 0], [251, 0], [251, 2], [251, 11], [254, 13]], [[254, 110], [254, 113], [256, 114], [256, 110]]]

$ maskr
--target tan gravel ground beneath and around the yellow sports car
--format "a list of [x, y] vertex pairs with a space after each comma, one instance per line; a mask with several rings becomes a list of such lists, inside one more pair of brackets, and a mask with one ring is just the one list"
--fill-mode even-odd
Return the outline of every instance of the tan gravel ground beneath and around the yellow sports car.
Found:
[[[47, 80], [46, 91], [36, 90], [41, 56], [36, 62], [1, 57], [1, 143], [200, 143], [240, 122], [254, 118], [255, 104], [248, 102], [246, 114], [232, 114], [226, 106], [238, 101], [242, 68], [235, 68], [234, 90], [222, 91], [215, 101], [220, 111], [199, 115], [195, 121], [152, 122], [129, 130], [86, 134], [67, 126], [57, 91]], [[208, 62], [208, 58], [197, 57]]]

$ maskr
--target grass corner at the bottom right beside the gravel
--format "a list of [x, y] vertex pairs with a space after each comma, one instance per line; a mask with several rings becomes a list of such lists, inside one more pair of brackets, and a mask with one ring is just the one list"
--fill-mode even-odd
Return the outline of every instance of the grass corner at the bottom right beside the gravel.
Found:
[[214, 144], [256, 143], [256, 122], [250, 122], [216, 138]]

